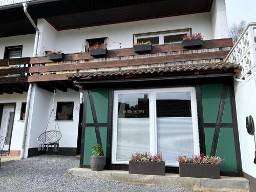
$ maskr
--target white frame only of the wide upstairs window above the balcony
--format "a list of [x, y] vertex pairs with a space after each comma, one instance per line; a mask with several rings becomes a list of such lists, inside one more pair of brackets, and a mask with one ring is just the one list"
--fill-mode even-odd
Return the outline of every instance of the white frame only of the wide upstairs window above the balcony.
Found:
[[[183, 30], [175, 30], [175, 31], [164, 31], [164, 32], [158, 32], [158, 33], [147, 33], [147, 34], [135, 34], [134, 35], [134, 42], [137, 42], [138, 38], [148, 38], [148, 37], [158, 37], [159, 38], [159, 44], [158, 45], [163, 45], [164, 44], [164, 36], [168, 35], [179, 35], [179, 34], [190, 34], [190, 29], [183, 29]], [[179, 41], [181, 42], [181, 41]], [[167, 44], [178, 44], [179, 42], [170, 42]]]

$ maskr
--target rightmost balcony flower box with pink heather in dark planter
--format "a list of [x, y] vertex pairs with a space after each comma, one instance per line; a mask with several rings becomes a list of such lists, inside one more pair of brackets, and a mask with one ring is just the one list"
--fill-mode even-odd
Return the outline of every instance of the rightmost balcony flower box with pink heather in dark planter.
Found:
[[193, 33], [191, 35], [184, 35], [182, 37], [182, 44], [184, 48], [195, 48], [203, 45], [201, 33]]

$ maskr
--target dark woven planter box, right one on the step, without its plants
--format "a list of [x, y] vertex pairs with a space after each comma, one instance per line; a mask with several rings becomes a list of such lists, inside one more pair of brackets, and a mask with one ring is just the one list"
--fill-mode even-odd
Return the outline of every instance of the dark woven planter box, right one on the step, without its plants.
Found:
[[220, 179], [220, 164], [180, 163], [180, 177]]

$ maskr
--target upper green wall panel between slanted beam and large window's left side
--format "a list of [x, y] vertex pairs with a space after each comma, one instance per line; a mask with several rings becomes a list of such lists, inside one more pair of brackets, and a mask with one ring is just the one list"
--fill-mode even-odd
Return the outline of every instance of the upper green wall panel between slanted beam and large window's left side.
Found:
[[92, 90], [98, 123], [108, 123], [109, 90]]

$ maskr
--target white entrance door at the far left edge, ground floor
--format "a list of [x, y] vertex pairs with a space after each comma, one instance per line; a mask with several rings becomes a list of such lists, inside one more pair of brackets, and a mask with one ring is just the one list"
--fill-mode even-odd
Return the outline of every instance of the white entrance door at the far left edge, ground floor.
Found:
[[5, 142], [1, 142], [1, 146], [0, 146], [0, 148], [3, 147], [4, 151], [9, 151], [13, 119], [14, 119], [14, 106], [4, 106], [1, 128], [0, 128], [0, 135], [2, 135], [3, 137], [6, 137]]

